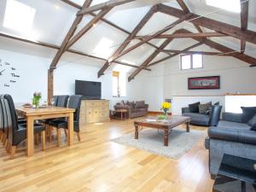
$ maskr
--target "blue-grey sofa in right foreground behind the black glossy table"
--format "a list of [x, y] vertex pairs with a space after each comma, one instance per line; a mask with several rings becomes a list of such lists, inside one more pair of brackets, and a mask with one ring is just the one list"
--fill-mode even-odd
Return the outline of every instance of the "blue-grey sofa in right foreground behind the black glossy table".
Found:
[[212, 178], [224, 154], [256, 160], [256, 131], [242, 122], [240, 113], [223, 113], [218, 126], [210, 126], [205, 147], [209, 150], [209, 172]]

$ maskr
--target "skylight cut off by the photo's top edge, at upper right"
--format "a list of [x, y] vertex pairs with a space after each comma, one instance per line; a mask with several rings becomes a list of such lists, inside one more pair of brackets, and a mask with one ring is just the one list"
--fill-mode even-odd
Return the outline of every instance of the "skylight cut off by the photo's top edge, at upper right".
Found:
[[225, 9], [231, 12], [240, 13], [241, 4], [240, 0], [206, 0], [207, 5]]

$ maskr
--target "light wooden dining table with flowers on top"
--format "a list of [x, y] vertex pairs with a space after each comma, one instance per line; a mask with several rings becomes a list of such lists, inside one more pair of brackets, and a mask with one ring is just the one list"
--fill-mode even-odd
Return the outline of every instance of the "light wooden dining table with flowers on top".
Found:
[[34, 152], [34, 121], [38, 119], [54, 119], [67, 117], [67, 144], [73, 145], [73, 108], [60, 108], [54, 106], [46, 106], [44, 108], [26, 108], [16, 107], [16, 112], [19, 116], [26, 119], [26, 154], [32, 156]]

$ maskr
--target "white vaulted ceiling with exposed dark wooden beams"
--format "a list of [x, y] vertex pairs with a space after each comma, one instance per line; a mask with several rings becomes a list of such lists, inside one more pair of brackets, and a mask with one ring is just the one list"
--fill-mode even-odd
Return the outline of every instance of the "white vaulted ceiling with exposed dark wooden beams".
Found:
[[[28, 31], [3, 25], [9, 1], [35, 9]], [[141, 70], [201, 44], [213, 48], [215, 55], [229, 53], [256, 65], [256, 1], [241, 0], [241, 5], [241, 13], [233, 13], [205, 0], [2, 0], [0, 31], [4, 38], [56, 49], [50, 72], [69, 51], [102, 61], [99, 77], [111, 65], [130, 66], [131, 80]]]

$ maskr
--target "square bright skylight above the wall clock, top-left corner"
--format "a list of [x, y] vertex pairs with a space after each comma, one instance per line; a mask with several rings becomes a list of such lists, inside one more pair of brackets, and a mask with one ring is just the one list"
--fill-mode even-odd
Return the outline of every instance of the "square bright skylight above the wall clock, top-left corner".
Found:
[[36, 9], [16, 0], [6, 4], [3, 26], [19, 32], [29, 32], [36, 14]]

